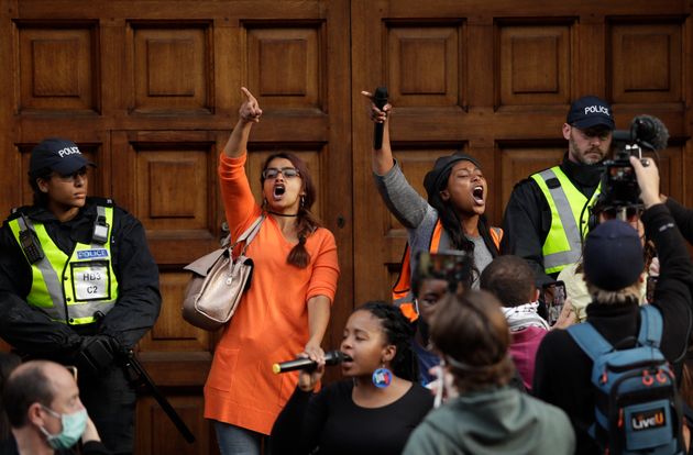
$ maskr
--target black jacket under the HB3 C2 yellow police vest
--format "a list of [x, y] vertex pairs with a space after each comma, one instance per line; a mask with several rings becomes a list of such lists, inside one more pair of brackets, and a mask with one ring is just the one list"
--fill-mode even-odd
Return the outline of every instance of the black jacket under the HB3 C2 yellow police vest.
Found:
[[[76, 242], [90, 243], [97, 203], [106, 204], [108, 200], [87, 199], [77, 217], [64, 223], [42, 207], [20, 210], [43, 223], [55, 244], [69, 255]], [[111, 253], [119, 284], [113, 309], [98, 326], [52, 321], [25, 301], [32, 284], [31, 266], [6, 221], [0, 230], [0, 336], [24, 354], [61, 363], [74, 360], [82, 335], [110, 335], [127, 347], [136, 344], [158, 317], [158, 268], [142, 224], [118, 207], [113, 210]]]

